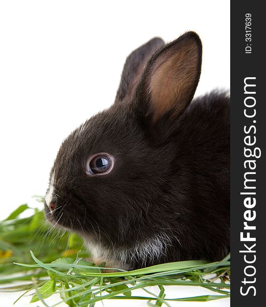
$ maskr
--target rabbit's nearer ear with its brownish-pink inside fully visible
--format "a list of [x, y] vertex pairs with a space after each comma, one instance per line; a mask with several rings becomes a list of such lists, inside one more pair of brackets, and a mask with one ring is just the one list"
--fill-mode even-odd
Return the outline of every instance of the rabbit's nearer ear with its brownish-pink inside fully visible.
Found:
[[[190, 104], [201, 75], [202, 43], [187, 32], [150, 59], [136, 91], [139, 109], [153, 122], [179, 116]], [[144, 105], [143, 105], [144, 102]]]

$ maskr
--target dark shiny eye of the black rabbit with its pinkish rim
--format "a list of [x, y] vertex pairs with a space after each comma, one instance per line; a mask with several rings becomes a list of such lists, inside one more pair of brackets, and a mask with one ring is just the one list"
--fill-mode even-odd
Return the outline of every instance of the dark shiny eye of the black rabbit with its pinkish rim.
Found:
[[92, 156], [87, 163], [86, 173], [88, 175], [105, 175], [114, 166], [114, 158], [107, 153], [97, 153]]

